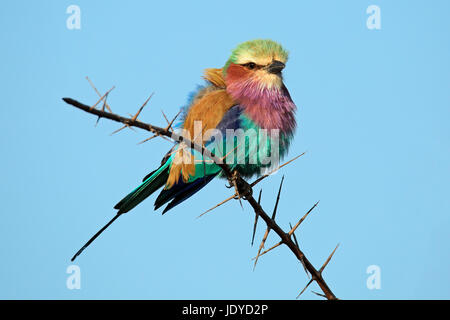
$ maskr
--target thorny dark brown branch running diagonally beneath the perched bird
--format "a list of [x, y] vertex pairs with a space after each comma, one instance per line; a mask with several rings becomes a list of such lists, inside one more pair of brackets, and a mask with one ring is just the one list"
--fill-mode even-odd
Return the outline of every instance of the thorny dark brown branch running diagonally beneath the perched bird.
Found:
[[[207, 212], [210, 212], [211, 210], [217, 208], [218, 206], [228, 202], [229, 200], [233, 199], [233, 198], [238, 198], [240, 199], [244, 199], [246, 200], [251, 207], [253, 208], [254, 212], [255, 212], [255, 223], [254, 223], [254, 228], [253, 228], [253, 237], [252, 237], [252, 244], [253, 244], [253, 239], [254, 239], [254, 233], [256, 230], [256, 223], [258, 221], [258, 218], [262, 218], [264, 220], [264, 222], [267, 225], [267, 229], [266, 229], [266, 233], [264, 234], [263, 240], [261, 242], [261, 245], [259, 247], [258, 250], [258, 254], [257, 256], [254, 258], [255, 260], [255, 264], [254, 266], [256, 266], [256, 263], [258, 261], [258, 258], [266, 253], [268, 253], [269, 251], [275, 249], [276, 247], [284, 244], [286, 245], [291, 251], [292, 253], [296, 256], [296, 258], [301, 262], [301, 264], [303, 265], [305, 271], [307, 272], [308, 275], [311, 276], [311, 279], [309, 280], [309, 282], [307, 283], [307, 285], [305, 286], [305, 288], [299, 293], [299, 295], [297, 296], [297, 298], [309, 287], [309, 285], [312, 282], [316, 282], [320, 289], [322, 290], [323, 294], [321, 293], [317, 293], [314, 292], [315, 294], [325, 297], [328, 300], [336, 300], [336, 296], [334, 295], [334, 293], [331, 291], [331, 289], [329, 288], [329, 286], [327, 285], [327, 283], [325, 282], [322, 273], [325, 269], [325, 267], [328, 265], [328, 263], [330, 262], [331, 258], [333, 257], [336, 249], [338, 248], [339, 244], [336, 246], [336, 248], [333, 250], [333, 252], [329, 255], [329, 257], [327, 258], [327, 260], [325, 261], [325, 263], [322, 265], [322, 267], [317, 270], [312, 263], [306, 258], [305, 254], [300, 250], [300, 247], [298, 245], [297, 242], [297, 238], [295, 236], [295, 231], [296, 229], [299, 227], [299, 225], [305, 220], [305, 218], [308, 216], [308, 214], [317, 206], [318, 202], [314, 204], [314, 206], [297, 222], [297, 224], [295, 224], [294, 227], [291, 226], [291, 230], [289, 232], [284, 232], [283, 229], [275, 222], [275, 216], [276, 216], [276, 212], [277, 212], [277, 208], [278, 208], [278, 203], [280, 200], [280, 193], [281, 193], [281, 187], [283, 184], [283, 180], [284, 177], [281, 181], [280, 184], [280, 189], [278, 192], [278, 196], [277, 196], [277, 200], [276, 200], [276, 204], [275, 204], [275, 208], [273, 210], [273, 214], [272, 217], [269, 217], [269, 215], [267, 215], [267, 213], [264, 211], [264, 209], [261, 207], [260, 204], [260, 200], [261, 200], [261, 192], [259, 194], [259, 198], [258, 201], [256, 201], [253, 198], [252, 195], [252, 187], [254, 187], [256, 184], [258, 184], [259, 182], [261, 182], [263, 179], [267, 178], [269, 175], [271, 175], [273, 172], [279, 170], [280, 168], [282, 168], [283, 166], [291, 163], [292, 161], [296, 160], [297, 158], [299, 158], [300, 156], [302, 156], [304, 153], [300, 154], [299, 156], [295, 157], [294, 159], [286, 162], [285, 164], [279, 166], [278, 168], [275, 168], [273, 171], [266, 173], [265, 175], [259, 177], [258, 179], [256, 179], [254, 182], [248, 184], [246, 181], [244, 181], [239, 174], [236, 171], [232, 171], [230, 169], [230, 167], [225, 164], [222, 160], [222, 158], [215, 156], [213, 153], [211, 153], [208, 149], [206, 149], [203, 145], [197, 145], [196, 143], [192, 142], [191, 140], [189, 140], [188, 138], [181, 136], [177, 133], [175, 133], [172, 129], [172, 124], [175, 121], [175, 119], [177, 118], [177, 116], [179, 115], [179, 113], [175, 116], [175, 118], [172, 121], [168, 121], [167, 117], [164, 115], [164, 118], [166, 119], [166, 122], [168, 123], [167, 127], [165, 128], [161, 128], [152, 124], [148, 124], [145, 122], [141, 122], [139, 120], [137, 120], [137, 117], [139, 116], [139, 114], [141, 113], [142, 109], [144, 108], [144, 106], [147, 104], [147, 102], [150, 100], [150, 98], [152, 97], [152, 95], [145, 101], [145, 103], [139, 108], [138, 112], [134, 115], [131, 116], [130, 118], [126, 118], [126, 117], [122, 117], [119, 116], [115, 113], [113, 113], [111, 111], [110, 106], [106, 103], [106, 98], [108, 97], [108, 94], [114, 89], [114, 87], [112, 87], [109, 91], [107, 91], [103, 96], [100, 95], [100, 93], [98, 92], [98, 90], [94, 87], [94, 85], [92, 84], [92, 82], [90, 81], [89, 78], [87, 78], [89, 83], [91, 84], [91, 86], [94, 88], [94, 90], [96, 91], [97, 95], [100, 97], [100, 99], [92, 106], [88, 106], [85, 105], [83, 103], [80, 103], [74, 99], [71, 98], [63, 98], [64, 102], [66, 102], [69, 105], [72, 105], [78, 109], [81, 109], [87, 113], [96, 115], [98, 117], [97, 122], [100, 118], [105, 118], [105, 119], [109, 119], [112, 121], [116, 121], [116, 122], [120, 122], [122, 123], [124, 126], [121, 127], [119, 130], [116, 130], [115, 132], [118, 132], [124, 128], [132, 128], [132, 127], [136, 127], [136, 128], [140, 128], [149, 132], [152, 132], [154, 135], [150, 138], [147, 138], [146, 140], [142, 141], [148, 141], [154, 137], [163, 137], [163, 138], [170, 138], [175, 142], [178, 143], [185, 143], [187, 146], [189, 146], [192, 149], [195, 149], [199, 152], [201, 152], [203, 155], [205, 155], [206, 157], [208, 157], [209, 159], [211, 159], [212, 161], [214, 161], [218, 166], [221, 167], [221, 169], [224, 172], [224, 175], [228, 178], [228, 180], [230, 181], [230, 185], [234, 185], [235, 187], [235, 193], [225, 199], [224, 201], [222, 201], [221, 203], [217, 204], [216, 206], [214, 206], [213, 208], [209, 209], [208, 211], [202, 213], [200, 216], [204, 215]], [[95, 107], [103, 100], [103, 107], [101, 110], [96, 109]], [[105, 110], [105, 107], [107, 110]], [[114, 132], [114, 133], [115, 133]], [[200, 217], [199, 216], [199, 217]], [[116, 216], [112, 221], [114, 221], [118, 216]], [[110, 223], [112, 223], [112, 221]], [[109, 224], [110, 224], [109, 223]], [[105, 226], [107, 227], [107, 226]], [[104, 228], [105, 228], [104, 227]], [[275, 244], [274, 246], [272, 246], [271, 248], [265, 250], [264, 252], [261, 253], [261, 250], [264, 248], [264, 244], [265, 241], [268, 237], [269, 232], [273, 230], [279, 237], [280, 237], [280, 241]], [[292, 237], [293, 238], [292, 238]]]

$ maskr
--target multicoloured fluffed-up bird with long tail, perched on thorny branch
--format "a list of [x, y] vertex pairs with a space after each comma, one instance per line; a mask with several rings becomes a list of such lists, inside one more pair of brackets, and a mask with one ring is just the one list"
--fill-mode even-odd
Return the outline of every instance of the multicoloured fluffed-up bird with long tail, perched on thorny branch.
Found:
[[[287, 154], [297, 126], [297, 108], [283, 81], [288, 55], [281, 44], [270, 39], [238, 44], [222, 68], [204, 70], [204, 84], [190, 93], [174, 130], [212, 150], [240, 176], [261, 175]], [[164, 214], [216, 177], [225, 177], [219, 165], [178, 142], [159, 167], [114, 206], [117, 212], [113, 219], [71, 260], [119, 216], [159, 189], [154, 208], [166, 205]]]

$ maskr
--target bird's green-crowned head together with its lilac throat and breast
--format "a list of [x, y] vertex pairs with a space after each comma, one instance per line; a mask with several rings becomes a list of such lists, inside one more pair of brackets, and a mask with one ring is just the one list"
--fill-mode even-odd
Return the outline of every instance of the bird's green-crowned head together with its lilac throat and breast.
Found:
[[222, 72], [227, 93], [252, 121], [291, 135], [296, 107], [281, 73], [287, 59], [287, 51], [277, 42], [252, 40], [233, 50]]

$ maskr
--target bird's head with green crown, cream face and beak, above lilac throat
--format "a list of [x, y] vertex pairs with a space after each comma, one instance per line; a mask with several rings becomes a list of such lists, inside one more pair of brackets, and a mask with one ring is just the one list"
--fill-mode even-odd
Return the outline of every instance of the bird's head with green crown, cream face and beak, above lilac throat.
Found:
[[275, 41], [252, 40], [241, 43], [233, 50], [223, 68], [227, 88], [232, 91], [235, 87], [280, 89], [283, 85], [282, 70], [287, 59], [287, 51]]

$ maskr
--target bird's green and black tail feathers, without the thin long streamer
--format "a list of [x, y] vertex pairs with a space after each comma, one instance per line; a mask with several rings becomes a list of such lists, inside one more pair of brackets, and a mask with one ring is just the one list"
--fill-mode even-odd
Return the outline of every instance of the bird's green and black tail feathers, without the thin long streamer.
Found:
[[166, 161], [161, 167], [147, 176], [142, 184], [131, 191], [125, 198], [114, 206], [117, 214], [125, 213], [144, 201], [153, 192], [161, 188], [169, 177], [170, 161]]

